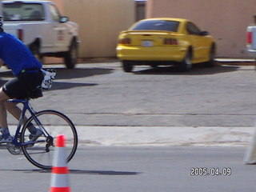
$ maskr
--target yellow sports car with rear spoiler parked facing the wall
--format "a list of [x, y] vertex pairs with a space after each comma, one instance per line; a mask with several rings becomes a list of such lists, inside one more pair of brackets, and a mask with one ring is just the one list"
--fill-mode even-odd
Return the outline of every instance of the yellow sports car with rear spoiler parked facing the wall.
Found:
[[198, 62], [214, 66], [216, 45], [208, 32], [187, 19], [149, 18], [122, 31], [116, 50], [126, 72], [138, 65], [178, 65], [186, 71]]

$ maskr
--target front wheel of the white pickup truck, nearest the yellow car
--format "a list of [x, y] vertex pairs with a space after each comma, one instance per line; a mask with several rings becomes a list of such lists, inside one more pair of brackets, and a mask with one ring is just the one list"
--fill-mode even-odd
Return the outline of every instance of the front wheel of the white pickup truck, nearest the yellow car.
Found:
[[78, 45], [75, 41], [73, 41], [70, 45], [70, 50], [66, 52], [64, 56], [65, 65], [68, 69], [73, 69], [77, 64], [78, 60]]

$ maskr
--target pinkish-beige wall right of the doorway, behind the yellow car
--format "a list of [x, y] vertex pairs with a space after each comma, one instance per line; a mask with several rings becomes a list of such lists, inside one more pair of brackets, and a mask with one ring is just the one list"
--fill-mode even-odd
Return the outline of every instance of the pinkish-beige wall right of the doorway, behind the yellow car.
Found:
[[256, 0], [148, 0], [146, 18], [188, 18], [214, 36], [218, 57], [243, 58], [246, 26], [254, 23]]

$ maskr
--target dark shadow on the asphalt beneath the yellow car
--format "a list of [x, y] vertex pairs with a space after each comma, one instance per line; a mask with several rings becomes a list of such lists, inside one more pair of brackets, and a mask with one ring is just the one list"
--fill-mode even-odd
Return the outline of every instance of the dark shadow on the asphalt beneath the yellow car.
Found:
[[[200, 64], [194, 65], [190, 71], [181, 72], [176, 66], [163, 66], [157, 68], [143, 69], [135, 71], [134, 74], [172, 74], [172, 75], [205, 75], [205, 74], [220, 74], [238, 70], [239, 66], [214, 66], [206, 67]], [[136, 69], [135, 69], [136, 70]]]

